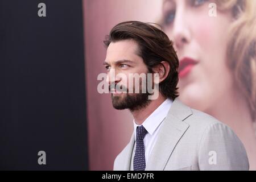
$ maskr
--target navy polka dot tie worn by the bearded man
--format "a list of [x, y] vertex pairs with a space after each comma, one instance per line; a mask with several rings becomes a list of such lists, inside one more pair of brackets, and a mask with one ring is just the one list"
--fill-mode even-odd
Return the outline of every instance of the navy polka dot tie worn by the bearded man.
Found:
[[143, 126], [137, 126], [136, 131], [136, 150], [133, 159], [134, 171], [144, 171], [146, 168], [145, 161], [145, 149], [144, 149], [144, 137], [147, 134], [147, 130]]

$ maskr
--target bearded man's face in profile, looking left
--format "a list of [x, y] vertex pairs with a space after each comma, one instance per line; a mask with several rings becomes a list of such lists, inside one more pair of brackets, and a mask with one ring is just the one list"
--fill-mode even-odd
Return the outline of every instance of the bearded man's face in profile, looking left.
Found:
[[[108, 72], [109, 91], [112, 93], [112, 103], [115, 109], [130, 109], [131, 111], [139, 110], [146, 107], [148, 100], [148, 92], [142, 93], [142, 81], [136, 84], [133, 78], [129, 76], [138, 73], [146, 74], [148, 69], [144, 64], [142, 57], [137, 55], [138, 44], [133, 40], [121, 40], [110, 43], [104, 65]], [[132, 80], [131, 80], [132, 79]], [[129, 86], [129, 83], [133, 85]], [[140, 92], [135, 92], [138, 88]], [[118, 88], [120, 88], [118, 90]], [[126, 90], [122, 92], [121, 90]]]

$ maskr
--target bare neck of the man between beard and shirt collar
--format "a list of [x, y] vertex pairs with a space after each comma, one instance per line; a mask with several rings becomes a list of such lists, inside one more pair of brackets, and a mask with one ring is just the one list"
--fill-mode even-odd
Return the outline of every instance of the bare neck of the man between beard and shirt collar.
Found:
[[140, 110], [131, 111], [137, 125], [142, 125], [145, 119], [147, 119], [165, 100], [166, 98], [163, 97], [162, 94], [159, 94], [159, 97], [156, 100], [152, 100], [146, 107], [143, 107]]

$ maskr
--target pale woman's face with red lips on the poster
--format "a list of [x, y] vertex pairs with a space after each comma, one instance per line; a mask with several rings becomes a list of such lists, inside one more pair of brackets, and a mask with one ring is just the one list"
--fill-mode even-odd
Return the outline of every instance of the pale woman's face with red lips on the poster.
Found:
[[227, 66], [228, 28], [231, 12], [210, 16], [207, 0], [163, 0], [164, 31], [180, 60], [181, 101], [207, 111], [233, 89]]

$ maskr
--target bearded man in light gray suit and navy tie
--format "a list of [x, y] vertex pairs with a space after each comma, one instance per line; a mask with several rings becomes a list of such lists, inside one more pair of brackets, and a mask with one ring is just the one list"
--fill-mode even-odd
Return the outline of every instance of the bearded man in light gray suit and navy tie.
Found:
[[[245, 148], [228, 126], [177, 98], [179, 60], [163, 31], [148, 23], [123, 22], [104, 43], [113, 106], [129, 109], [134, 117], [134, 134], [114, 170], [249, 169]], [[148, 90], [134, 93], [145, 85], [139, 80], [131, 86], [134, 78], [129, 77], [150, 73], [147, 85], [153, 81], [159, 90], [154, 99]]]

